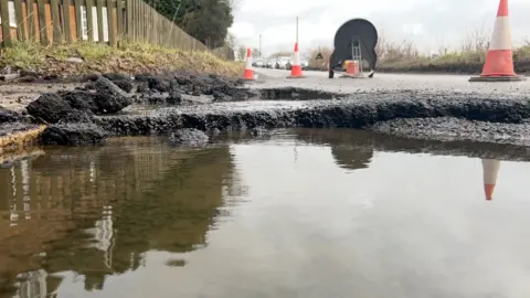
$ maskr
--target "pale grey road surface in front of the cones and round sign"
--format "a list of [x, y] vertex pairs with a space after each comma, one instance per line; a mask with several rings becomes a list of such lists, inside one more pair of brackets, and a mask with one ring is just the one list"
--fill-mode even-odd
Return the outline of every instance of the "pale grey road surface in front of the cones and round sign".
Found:
[[471, 92], [481, 94], [521, 94], [530, 92], [530, 81], [513, 83], [469, 83], [469, 75], [415, 75], [415, 74], [383, 74], [375, 73], [369, 78], [339, 78], [336, 73], [333, 79], [328, 78], [327, 72], [305, 71], [306, 78], [287, 79], [289, 71], [254, 68], [258, 74], [256, 87], [305, 87], [327, 92], [384, 92], [384, 91], [431, 91], [442, 94], [451, 92]]

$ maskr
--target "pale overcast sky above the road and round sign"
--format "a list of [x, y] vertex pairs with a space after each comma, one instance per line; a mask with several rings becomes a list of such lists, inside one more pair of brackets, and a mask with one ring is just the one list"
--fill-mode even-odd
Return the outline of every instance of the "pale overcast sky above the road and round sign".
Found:
[[[456, 49], [474, 32], [488, 36], [499, 0], [239, 0], [229, 31], [240, 45], [262, 52], [293, 50], [296, 17], [300, 52], [332, 47], [337, 29], [348, 20], [372, 22], [386, 40], [412, 41], [425, 53]], [[510, 0], [513, 43], [530, 40], [530, 0]]]

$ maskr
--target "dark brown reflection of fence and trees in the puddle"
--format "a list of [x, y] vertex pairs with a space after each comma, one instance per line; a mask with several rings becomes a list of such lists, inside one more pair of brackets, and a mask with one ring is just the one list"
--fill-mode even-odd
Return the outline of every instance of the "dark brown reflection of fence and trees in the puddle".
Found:
[[244, 191], [236, 181], [227, 146], [186, 151], [148, 139], [46, 149], [0, 169], [9, 185], [0, 188], [0, 296], [18, 287], [44, 297], [64, 272], [102, 289], [148, 251], [204, 247], [224, 201]]

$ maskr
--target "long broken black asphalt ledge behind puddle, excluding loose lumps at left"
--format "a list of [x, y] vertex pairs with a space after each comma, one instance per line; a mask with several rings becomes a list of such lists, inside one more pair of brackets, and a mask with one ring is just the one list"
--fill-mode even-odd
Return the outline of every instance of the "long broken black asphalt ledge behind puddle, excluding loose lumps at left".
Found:
[[[116, 135], [148, 135], [181, 128], [234, 130], [254, 127], [367, 128], [398, 118], [455, 117], [468, 120], [522, 124], [530, 117], [530, 100], [488, 99], [476, 94], [406, 93], [360, 94], [339, 100], [308, 100], [294, 106], [259, 105], [239, 108], [230, 104], [165, 108], [149, 115], [98, 117], [95, 121]], [[510, 126], [507, 126], [510, 127]], [[437, 129], [453, 130], [443, 123]]]

